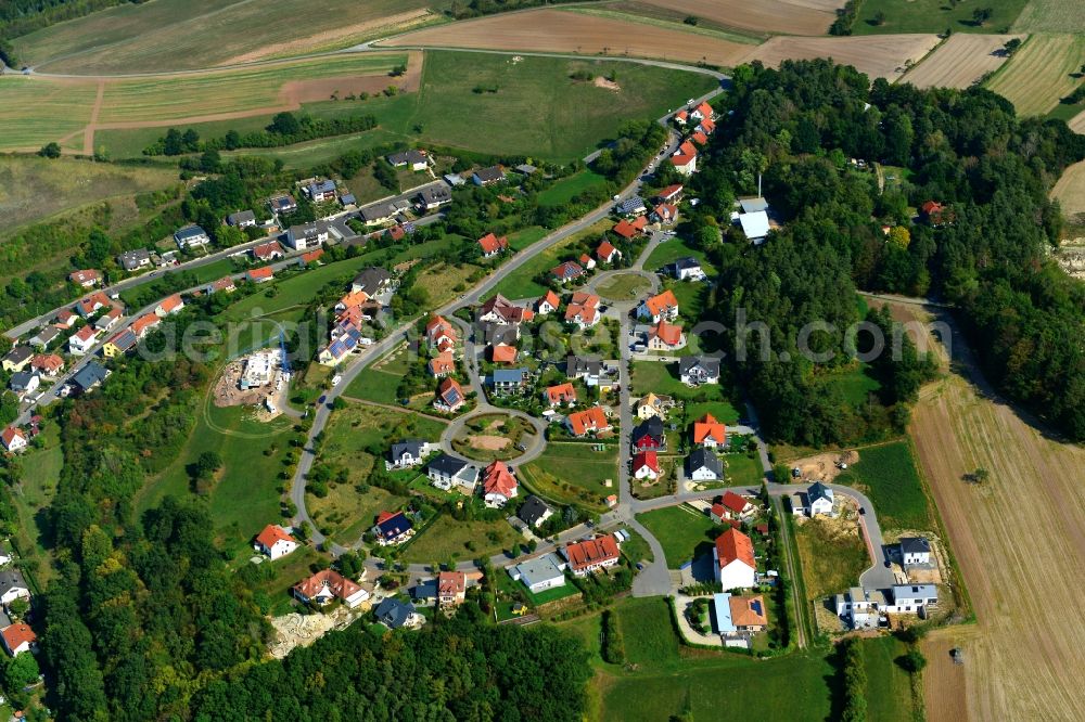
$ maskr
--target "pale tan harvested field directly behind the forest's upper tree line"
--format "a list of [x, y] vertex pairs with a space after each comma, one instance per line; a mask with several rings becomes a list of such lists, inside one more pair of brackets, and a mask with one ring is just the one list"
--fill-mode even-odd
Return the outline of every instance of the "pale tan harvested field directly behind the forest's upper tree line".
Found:
[[919, 62], [939, 44], [936, 35], [879, 35], [848, 38], [773, 38], [744, 60], [776, 67], [786, 60], [831, 57], [873, 78], [895, 80], [908, 61]]

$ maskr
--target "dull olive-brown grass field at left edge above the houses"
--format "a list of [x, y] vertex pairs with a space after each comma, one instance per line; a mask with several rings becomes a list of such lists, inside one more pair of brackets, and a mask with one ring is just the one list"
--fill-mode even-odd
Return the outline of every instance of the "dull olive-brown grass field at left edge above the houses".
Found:
[[124, 167], [74, 158], [0, 160], [0, 237], [25, 223], [118, 196], [180, 183], [176, 168]]

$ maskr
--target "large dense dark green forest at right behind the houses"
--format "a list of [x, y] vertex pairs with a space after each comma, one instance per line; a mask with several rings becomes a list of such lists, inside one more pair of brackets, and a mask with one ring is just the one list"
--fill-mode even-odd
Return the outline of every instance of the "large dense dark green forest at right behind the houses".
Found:
[[[1085, 157], [1085, 138], [1061, 120], [1017, 118], [984, 89], [871, 85], [829, 61], [743, 66], [733, 81], [693, 181], [706, 199], [693, 236], [719, 237], [729, 223], [717, 219], [737, 196], [755, 194], [763, 175], [783, 228], [758, 247], [723, 229], [741, 243], [714, 248], [724, 268], [715, 309], [728, 349], [739, 309], [770, 328], [768, 359], [736, 361], [770, 438], [842, 442], [907, 422], [916, 379], [932, 371], [915, 349], [875, 364], [879, 404], [850, 408], [820, 383], [850, 361], [843, 330], [859, 318], [859, 288], [949, 302], [988, 378], [1085, 439], [1085, 349], [1071, 343], [1085, 337], [1085, 286], [1047, 258], [1062, 223], [1047, 192]], [[880, 190], [870, 162], [902, 180]], [[929, 201], [944, 212], [914, 210]], [[828, 362], [795, 353], [799, 330], [813, 321], [837, 328], [810, 337], [813, 350], [839, 351]]]

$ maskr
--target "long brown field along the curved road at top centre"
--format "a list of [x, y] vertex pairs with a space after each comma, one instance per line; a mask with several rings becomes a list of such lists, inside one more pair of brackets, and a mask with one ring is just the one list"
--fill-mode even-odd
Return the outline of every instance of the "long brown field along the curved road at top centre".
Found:
[[732, 67], [750, 46], [706, 35], [651, 29], [642, 23], [561, 10], [490, 15], [426, 28], [381, 42], [382, 48], [430, 47], [605, 54]]

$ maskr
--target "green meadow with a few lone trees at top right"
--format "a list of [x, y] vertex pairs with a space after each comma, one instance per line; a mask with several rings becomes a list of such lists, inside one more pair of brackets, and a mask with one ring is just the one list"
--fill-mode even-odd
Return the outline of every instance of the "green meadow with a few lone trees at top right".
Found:
[[[852, 31], [855, 35], [883, 33], [1008, 33], [1009, 27], [1021, 14], [1029, 0], [991, 0], [982, 5], [960, 2], [956, 7], [944, 0], [866, 0]], [[972, 12], [978, 8], [990, 8], [991, 20], [976, 25]], [[884, 17], [881, 24], [876, 18]]]

